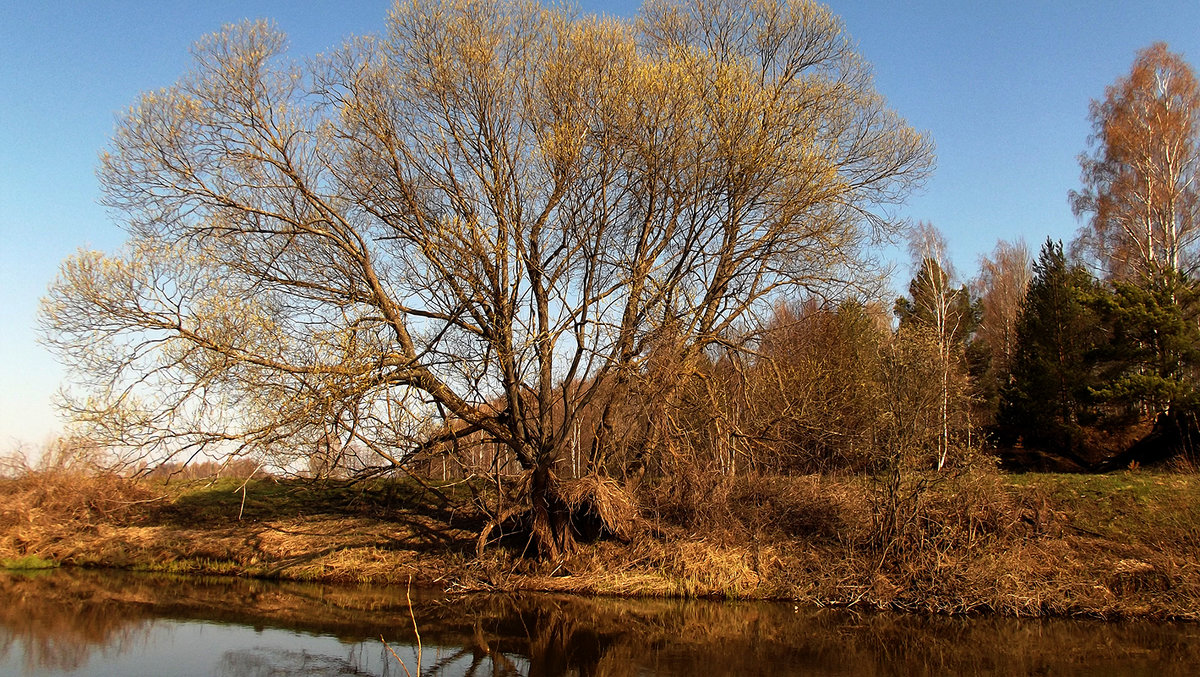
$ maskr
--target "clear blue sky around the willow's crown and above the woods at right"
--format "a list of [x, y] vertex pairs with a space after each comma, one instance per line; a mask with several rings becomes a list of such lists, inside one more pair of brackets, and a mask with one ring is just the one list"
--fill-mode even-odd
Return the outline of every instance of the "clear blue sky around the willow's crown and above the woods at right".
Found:
[[[37, 300], [80, 246], [124, 234], [97, 204], [96, 157], [115, 114], [172, 84], [188, 46], [222, 24], [268, 17], [292, 52], [382, 30], [389, 0], [0, 2], [0, 451], [58, 426], [61, 372], [36, 343]], [[632, 14], [638, 2], [582, 2]], [[937, 172], [904, 215], [949, 240], [961, 274], [997, 239], [1069, 240], [1088, 101], [1165, 41], [1200, 64], [1200, 2], [1156, 0], [833, 1], [876, 86], [937, 144]], [[907, 271], [899, 277], [907, 278]], [[900, 283], [902, 283], [901, 281]]]

